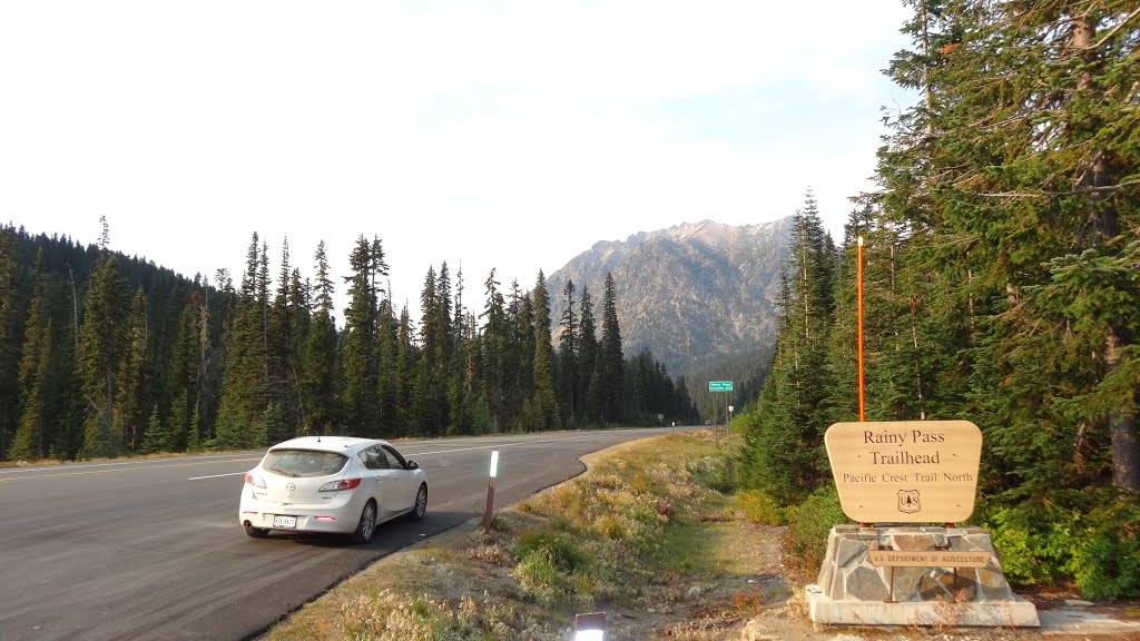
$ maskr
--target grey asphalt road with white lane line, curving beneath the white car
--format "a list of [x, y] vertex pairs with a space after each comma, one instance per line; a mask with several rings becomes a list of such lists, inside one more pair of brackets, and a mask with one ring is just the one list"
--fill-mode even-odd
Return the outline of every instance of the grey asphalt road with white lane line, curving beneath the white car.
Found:
[[0, 469], [0, 639], [227, 641], [264, 631], [375, 559], [585, 470], [578, 456], [668, 429], [402, 441], [427, 514], [339, 536], [245, 536], [243, 474], [262, 452]]

